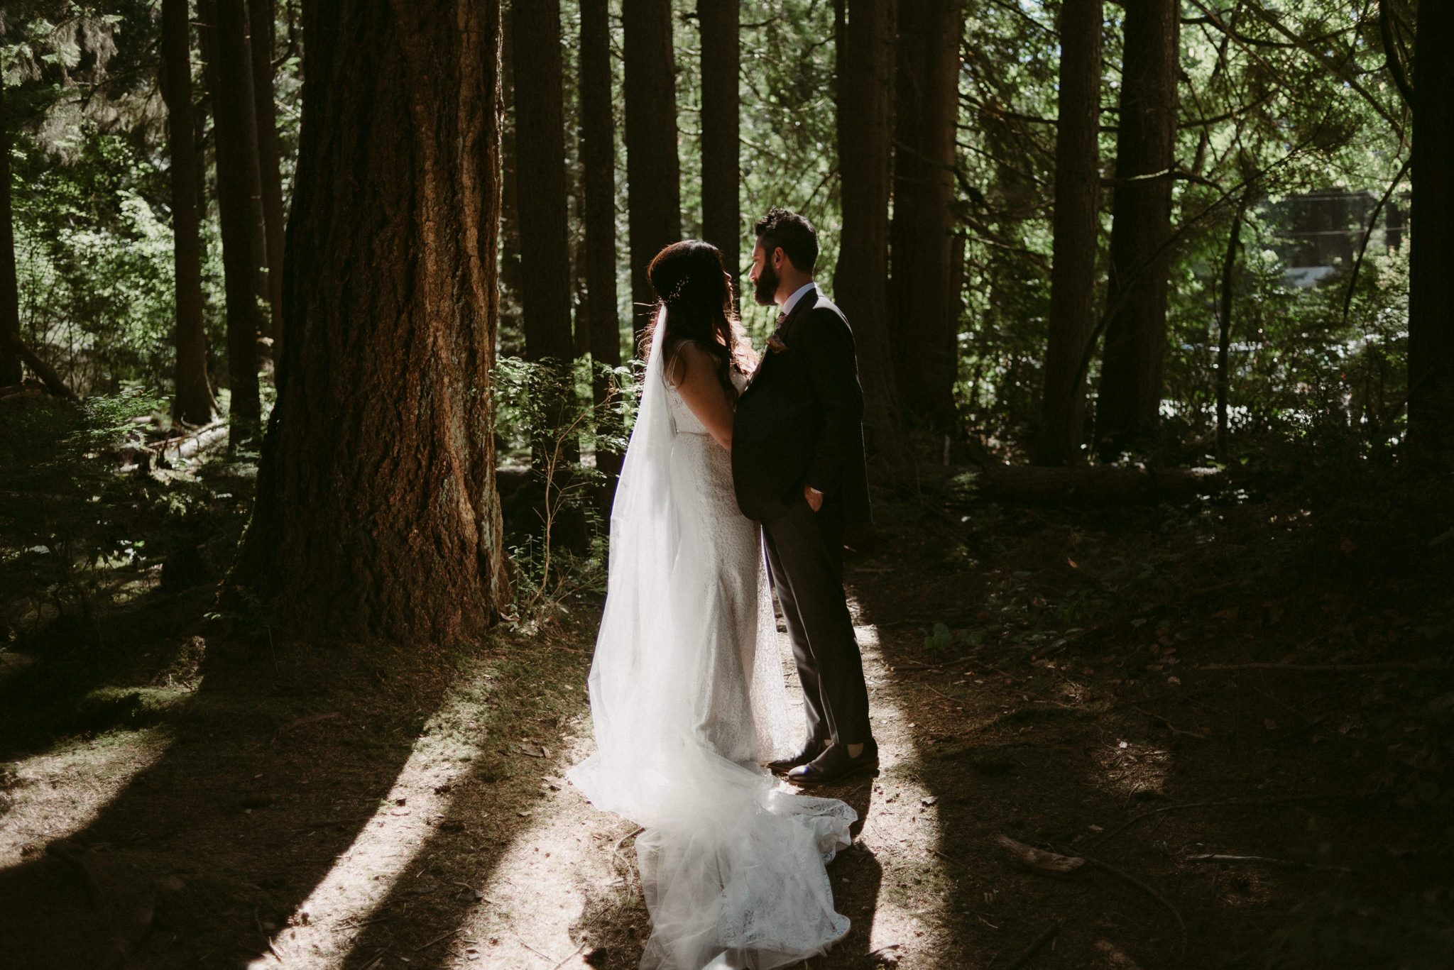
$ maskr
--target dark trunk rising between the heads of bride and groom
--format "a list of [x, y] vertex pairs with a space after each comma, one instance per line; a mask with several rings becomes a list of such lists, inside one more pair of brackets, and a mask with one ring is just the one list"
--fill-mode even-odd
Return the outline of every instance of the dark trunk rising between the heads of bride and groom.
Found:
[[702, 239], [723, 252], [740, 305], [737, 0], [696, 0], [696, 23], [702, 35]]

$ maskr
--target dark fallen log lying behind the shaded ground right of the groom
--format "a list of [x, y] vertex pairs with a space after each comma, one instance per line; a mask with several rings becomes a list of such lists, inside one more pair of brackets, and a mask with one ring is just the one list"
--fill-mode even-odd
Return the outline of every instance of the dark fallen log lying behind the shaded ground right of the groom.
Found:
[[1027, 505], [1162, 502], [1189, 499], [1226, 484], [1227, 473], [1221, 468], [983, 465], [974, 474], [981, 497]]

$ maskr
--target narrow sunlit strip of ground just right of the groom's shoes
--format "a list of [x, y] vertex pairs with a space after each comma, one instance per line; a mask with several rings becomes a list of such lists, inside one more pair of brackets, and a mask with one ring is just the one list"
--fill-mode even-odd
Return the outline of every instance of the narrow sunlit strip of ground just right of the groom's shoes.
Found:
[[[868, 707], [881, 765], [864, 829], [858, 835], [858, 845], [871, 852], [881, 867], [868, 950], [903, 958], [909, 950], [938, 950], [952, 942], [954, 934], [948, 926], [954, 925], [949, 912], [954, 891], [947, 880], [947, 865], [938, 855], [942, 845], [938, 793], [916, 768], [916, 726], [904, 714], [899, 686], [888, 673], [878, 628], [862, 622], [853, 598], [849, 598], [849, 609], [864, 654], [864, 679], [868, 682]], [[838, 887], [839, 883], [835, 883]], [[845, 915], [852, 919], [858, 913]]]

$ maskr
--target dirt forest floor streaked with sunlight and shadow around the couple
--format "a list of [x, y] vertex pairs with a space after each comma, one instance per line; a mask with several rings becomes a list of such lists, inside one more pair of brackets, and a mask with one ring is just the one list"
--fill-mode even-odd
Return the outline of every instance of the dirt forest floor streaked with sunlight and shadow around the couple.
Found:
[[[250, 474], [183, 483], [202, 577]], [[883, 769], [827, 790], [852, 931], [804, 967], [1447, 966], [1447, 577], [1323, 563], [1291, 494], [1015, 509], [926, 474], [877, 515], [848, 586]], [[161, 569], [109, 611], [6, 605], [0, 964], [637, 966], [634, 827], [561, 777], [598, 593], [420, 653]]]

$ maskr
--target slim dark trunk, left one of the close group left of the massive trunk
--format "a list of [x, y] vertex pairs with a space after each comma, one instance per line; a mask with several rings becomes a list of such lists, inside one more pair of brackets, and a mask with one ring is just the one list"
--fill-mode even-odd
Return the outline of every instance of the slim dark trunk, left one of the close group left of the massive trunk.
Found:
[[172, 156], [172, 240], [176, 265], [176, 397], [172, 416], [189, 425], [212, 420], [202, 324], [202, 234], [192, 144], [192, 25], [188, 0], [161, 3], [161, 96], [167, 102]]

